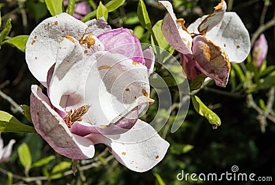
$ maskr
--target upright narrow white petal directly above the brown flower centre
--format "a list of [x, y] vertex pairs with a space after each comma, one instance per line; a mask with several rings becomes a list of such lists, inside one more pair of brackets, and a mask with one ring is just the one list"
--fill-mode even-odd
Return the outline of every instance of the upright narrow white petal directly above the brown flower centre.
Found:
[[78, 41], [71, 36], [63, 38], [58, 45], [56, 65], [50, 81], [50, 100], [57, 109], [67, 107], [68, 96], [71, 99], [77, 98], [75, 104], [83, 105], [84, 94], [79, 89], [83, 80], [82, 72], [85, 70], [84, 63], [85, 54]]

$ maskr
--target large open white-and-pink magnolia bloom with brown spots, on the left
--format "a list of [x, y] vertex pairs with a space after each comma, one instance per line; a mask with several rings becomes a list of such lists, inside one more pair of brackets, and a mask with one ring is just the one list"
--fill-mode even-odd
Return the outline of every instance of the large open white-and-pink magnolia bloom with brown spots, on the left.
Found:
[[129, 30], [111, 30], [104, 19], [83, 23], [58, 14], [32, 31], [26, 61], [47, 87], [45, 96], [32, 85], [32, 121], [56, 152], [88, 159], [94, 156], [94, 145], [103, 143], [137, 172], [162, 160], [168, 142], [138, 119], [144, 105], [153, 102], [148, 83], [153, 50], [142, 52]]

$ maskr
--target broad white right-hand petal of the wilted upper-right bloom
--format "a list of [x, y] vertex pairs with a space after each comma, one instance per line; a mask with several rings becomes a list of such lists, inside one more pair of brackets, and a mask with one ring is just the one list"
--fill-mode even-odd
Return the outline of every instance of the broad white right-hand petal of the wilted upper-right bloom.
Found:
[[250, 36], [235, 12], [225, 12], [219, 27], [206, 33], [206, 38], [219, 45], [232, 63], [241, 63], [250, 52]]

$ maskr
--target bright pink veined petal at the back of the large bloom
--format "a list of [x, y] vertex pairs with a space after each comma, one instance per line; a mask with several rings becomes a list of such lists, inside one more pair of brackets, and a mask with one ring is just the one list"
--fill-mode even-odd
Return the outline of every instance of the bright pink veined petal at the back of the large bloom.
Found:
[[145, 63], [140, 41], [129, 29], [110, 30], [98, 35], [98, 39], [104, 44], [105, 50], [127, 56], [137, 63]]

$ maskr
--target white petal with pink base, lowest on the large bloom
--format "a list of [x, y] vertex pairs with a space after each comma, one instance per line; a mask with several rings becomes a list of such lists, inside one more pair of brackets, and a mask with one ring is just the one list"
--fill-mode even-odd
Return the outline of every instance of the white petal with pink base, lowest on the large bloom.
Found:
[[91, 134], [87, 137], [95, 143], [109, 146], [116, 160], [137, 172], [153, 168], [164, 158], [169, 146], [150, 124], [142, 120], [137, 120], [131, 130], [120, 135]]

